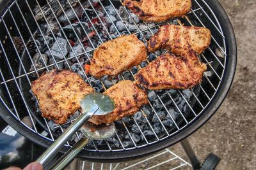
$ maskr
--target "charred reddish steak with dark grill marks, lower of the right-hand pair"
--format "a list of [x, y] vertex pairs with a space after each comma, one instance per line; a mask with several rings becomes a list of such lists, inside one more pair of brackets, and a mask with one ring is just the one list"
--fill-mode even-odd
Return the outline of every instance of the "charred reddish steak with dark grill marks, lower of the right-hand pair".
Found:
[[189, 89], [202, 81], [206, 69], [193, 50], [179, 57], [168, 52], [138, 71], [135, 78], [138, 85], [150, 90]]

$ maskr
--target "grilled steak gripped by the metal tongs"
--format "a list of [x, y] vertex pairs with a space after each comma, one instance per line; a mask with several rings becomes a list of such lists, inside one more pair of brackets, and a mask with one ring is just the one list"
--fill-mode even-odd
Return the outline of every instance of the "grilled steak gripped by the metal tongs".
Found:
[[120, 81], [104, 94], [115, 101], [115, 110], [104, 116], [94, 115], [89, 121], [99, 125], [111, 123], [136, 113], [143, 104], [147, 104], [147, 94], [130, 80]]

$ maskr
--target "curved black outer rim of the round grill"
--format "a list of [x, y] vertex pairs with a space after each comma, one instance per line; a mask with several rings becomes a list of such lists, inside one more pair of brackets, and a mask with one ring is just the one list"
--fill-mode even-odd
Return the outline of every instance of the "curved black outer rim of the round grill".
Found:
[[[6, 4], [8, 4], [8, 1]], [[236, 46], [236, 38], [234, 34], [234, 30], [232, 28], [231, 22], [227, 16], [227, 13], [221, 6], [221, 4], [215, 0], [205, 0], [212, 9], [214, 9], [214, 15], [218, 18], [220, 25], [225, 25], [222, 27], [223, 34], [226, 38], [226, 45], [227, 45], [227, 62], [225, 67], [225, 72], [223, 75], [223, 81], [220, 83], [220, 87], [216, 95], [212, 98], [211, 103], [205, 108], [202, 113], [188, 125], [185, 129], [177, 133], [172, 138], [164, 139], [163, 141], [158, 141], [157, 143], [144, 146], [142, 148], [136, 148], [136, 152], [134, 150], [125, 150], [125, 152], [90, 152], [90, 151], [82, 151], [78, 157], [93, 160], [94, 162], [120, 162], [120, 161], [127, 161], [127, 159], [137, 159], [139, 157], [143, 157], [154, 152], [158, 152], [159, 150], [163, 150], [168, 146], [174, 145], [178, 143], [184, 138], [187, 138], [189, 135], [193, 134], [196, 130], [198, 130], [202, 125], [204, 125], [207, 120], [209, 120], [214, 113], [220, 108], [221, 103], [223, 103], [225, 97], [228, 94], [228, 91], [232, 85], [232, 81], [234, 79], [234, 74], [236, 72], [236, 62], [237, 62], [237, 46]], [[0, 2], [3, 3], [3, 2]], [[5, 4], [3, 5], [5, 7]], [[1, 13], [0, 9], [0, 13]], [[2, 97], [0, 96], [1, 101], [3, 101]], [[207, 113], [205, 113], [207, 111]], [[19, 130], [20, 134], [25, 136], [26, 138], [30, 139], [33, 142], [39, 143], [44, 147], [48, 147], [51, 145], [51, 141], [44, 140], [35, 134], [35, 132], [24, 128], [24, 125], [15, 120], [14, 117], [10, 117], [10, 109], [4, 104], [0, 104], [0, 112], [1, 117], [10, 124], [14, 129]], [[66, 152], [68, 150], [67, 147], [64, 147], [62, 152]]]

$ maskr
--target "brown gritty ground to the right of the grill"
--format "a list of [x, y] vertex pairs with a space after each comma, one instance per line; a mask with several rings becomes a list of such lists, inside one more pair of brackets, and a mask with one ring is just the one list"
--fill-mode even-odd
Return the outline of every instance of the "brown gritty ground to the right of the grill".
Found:
[[[221, 157], [217, 169], [256, 169], [256, 1], [220, 0], [220, 3], [236, 33], [236, 77], [221, 108], [189, 140], [201, 161], [209, 152]], [[179, 145], [172, 150], [182, 154]]]

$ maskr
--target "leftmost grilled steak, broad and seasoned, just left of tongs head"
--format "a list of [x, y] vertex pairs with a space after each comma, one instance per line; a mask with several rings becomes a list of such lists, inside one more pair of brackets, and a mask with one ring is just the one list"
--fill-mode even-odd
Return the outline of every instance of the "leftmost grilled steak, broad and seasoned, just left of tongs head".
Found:
[[42, 116], [56, 124], [64, 124], [79, 110], [83, 96], [93, 92], [79, 74], [67, 70], [44, 73], [32, 82], [31, 89], [39, 101]]

